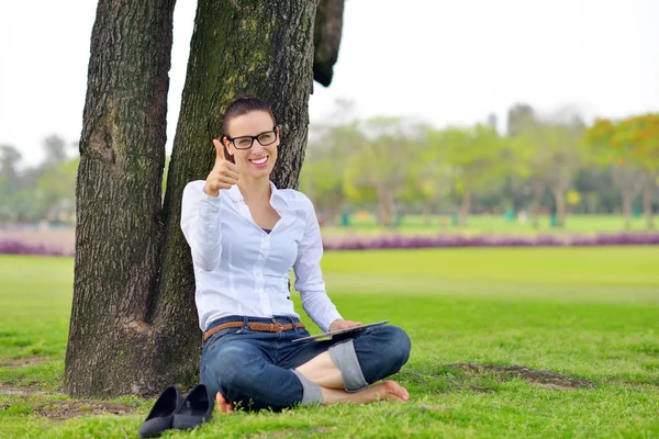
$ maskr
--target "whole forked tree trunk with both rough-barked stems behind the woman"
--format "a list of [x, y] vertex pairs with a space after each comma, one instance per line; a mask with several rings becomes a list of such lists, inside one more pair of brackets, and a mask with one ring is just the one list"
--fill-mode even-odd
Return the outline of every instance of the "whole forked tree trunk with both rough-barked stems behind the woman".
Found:
[[92, 33], [65, 384], [76, 396], [198, 381], [180, 202], [213, 165], [227, 104], [242, 92], [272, 102], [284, 125], [279, 188], [297, 187], [306, 144], [316, 2], [200, 0], [160, 214], [174, 0], [126, 1], [101, 0]]

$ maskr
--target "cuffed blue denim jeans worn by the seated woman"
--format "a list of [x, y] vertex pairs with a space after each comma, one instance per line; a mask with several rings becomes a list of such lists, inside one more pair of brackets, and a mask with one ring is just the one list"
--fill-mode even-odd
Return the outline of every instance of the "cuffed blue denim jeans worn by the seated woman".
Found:
[[[244, 317], [224, 317], [213, 322], [209, 329], [239, 319]], [[275, 319], [281, 324], [299, 323], [284, 316]], [[248, 317], [248, 320], [272, 323], [270, 318]], [[206, 385], [210, 397], [220, 392], [236, 408], [278, 410], [322, 402], [321, 387], [293, 371], [320, 353], [330, 352], [348, 392], [366, 389], [398, 372], [410, 357], [410, 337], [391, 325], [365, 328], [333, 340], [291, 342], [306, 336], [309, 331], [304, 328], [259, 333], [245, 325], [221, 330], [203, 345], [201, 383]]]

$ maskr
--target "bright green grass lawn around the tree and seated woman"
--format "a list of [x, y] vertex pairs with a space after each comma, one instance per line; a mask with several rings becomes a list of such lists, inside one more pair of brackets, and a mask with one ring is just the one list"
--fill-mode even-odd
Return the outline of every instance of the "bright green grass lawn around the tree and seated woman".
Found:
[[[390, 318], [409, 331], [412, 356], [395, 379], [411, 402], [215, 415], [164, 437], [659, 437], [658, 268], [659, 247], [328, 252], [327, 288], [346, 318]], [[57, 390], [71, 283], [71, 259], [0, 257], [0, 364], [14, 364], [0, 367], [2, 438], [136, 437], [150, 408], [124, 397], [135, 413], [38, 414], [69, 401]], [[15, 367], [35, 357], [44, 361]], [[466, 362], [551, 370], [595, 386], [548, 390], [450, 367]]]

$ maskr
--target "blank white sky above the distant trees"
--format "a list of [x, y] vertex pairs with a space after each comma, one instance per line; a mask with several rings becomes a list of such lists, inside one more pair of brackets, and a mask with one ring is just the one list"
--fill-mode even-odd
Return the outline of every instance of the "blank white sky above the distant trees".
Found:
[[[168, 150], [185, 80], [194, 0], [178, 0]], [[80, 136], [93, 0], [0, 1], [0, 144], [43, 159], [42, 142]], [[314, 85], [312, 123], [336, 99], [359, 116], [444, 126], [526, 102], [587, 117], [659, 111], [659, 1], [348, 0], [332, 86]]]

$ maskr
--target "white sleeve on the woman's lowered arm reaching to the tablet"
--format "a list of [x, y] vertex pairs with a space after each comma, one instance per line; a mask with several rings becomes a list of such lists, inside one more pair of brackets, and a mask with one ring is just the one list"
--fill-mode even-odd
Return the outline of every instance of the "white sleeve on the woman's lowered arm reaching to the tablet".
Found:
[[302, 241], [298, 247], [298, 258], [293, 264], [295, 290], [300, 292], [302, 307], [306, 314], [323, 331], [327, 331], [332, 322], [342, 318], [342, 316], [327, 296], [321, 270], [322, 257], [321, 227], [313, 204], [309, 201], [306, 227]]

